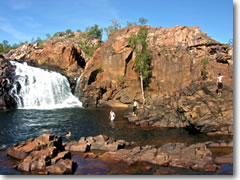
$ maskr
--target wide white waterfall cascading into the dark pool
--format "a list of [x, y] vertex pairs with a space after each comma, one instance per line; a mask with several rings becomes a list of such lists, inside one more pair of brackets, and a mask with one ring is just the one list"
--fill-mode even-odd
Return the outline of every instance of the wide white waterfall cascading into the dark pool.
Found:
[[[20, 109], [82, 107], [71, 93], [67, 78], [57, 72], [11, 61], [16, 66], [16, 88], [12, 90]], [[17, 87], [20, 84], [20, 89]]]

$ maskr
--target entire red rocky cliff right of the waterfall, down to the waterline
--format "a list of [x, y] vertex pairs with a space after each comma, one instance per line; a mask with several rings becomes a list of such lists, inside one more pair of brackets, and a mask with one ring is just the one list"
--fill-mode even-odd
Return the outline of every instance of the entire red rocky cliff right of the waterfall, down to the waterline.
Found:
[[[143, 126], [233, 134], [232, 47], [211, 39], [197, 26], [145, 27], [152, 53], [152, 77], [145, 89], [148, 107], [129, 120]], [[81, 79], [85, 106], [109, 106], [112, 101], [130, 105], [134, 99], [142, 103], [136, 54], [129, 46], [129, 38], [139, 29], [114, 33], [87, 63]], [[224, 75], [222, 97], [216, 94], [219, 72]]]

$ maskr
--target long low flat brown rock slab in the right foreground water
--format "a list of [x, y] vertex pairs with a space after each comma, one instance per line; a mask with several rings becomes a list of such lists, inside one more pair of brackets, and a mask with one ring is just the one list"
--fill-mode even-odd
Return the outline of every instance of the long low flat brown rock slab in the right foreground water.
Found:
[[[195, 170], [212, 170], [212, 153], [205, 144], [166, 144], [162, 147], [145, 146], [121, 149], [99, 155], [102, 160], [124, 161], [127, 164], [148, 162], [156, 165], [181, 167]], [[211, 167], [210, 167], [211, 166]]]

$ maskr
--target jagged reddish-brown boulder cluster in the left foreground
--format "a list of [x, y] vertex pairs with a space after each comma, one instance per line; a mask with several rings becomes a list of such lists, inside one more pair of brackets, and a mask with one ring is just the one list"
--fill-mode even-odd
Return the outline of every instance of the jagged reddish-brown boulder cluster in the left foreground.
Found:
[[72, 174], [74, 162], [71, 153], [64, 151], [62, 138], [53, 134], [43, 134], [35, 139], [15, 144], [7, 149], [7, 154], [20, 159], [15, 168], [35, 174]]

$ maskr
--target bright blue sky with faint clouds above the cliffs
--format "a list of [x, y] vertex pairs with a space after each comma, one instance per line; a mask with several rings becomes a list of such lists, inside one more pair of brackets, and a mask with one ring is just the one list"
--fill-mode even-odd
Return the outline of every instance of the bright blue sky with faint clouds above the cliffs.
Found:
[[0, 1], [0, 42], [10, 44], [32, 38], [46, 38], [59, 31], [101, 28], [116, 19], [126, 22], [148, 19], [152, 27], [199, 25], [213, 39], [233, 39], [231, 0], [2, 0]]

